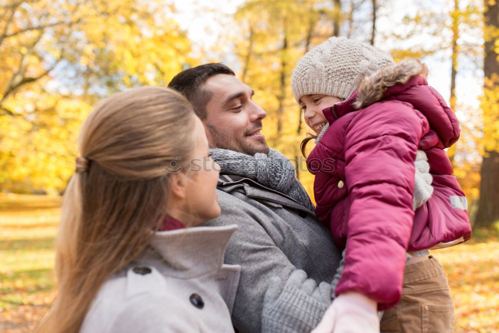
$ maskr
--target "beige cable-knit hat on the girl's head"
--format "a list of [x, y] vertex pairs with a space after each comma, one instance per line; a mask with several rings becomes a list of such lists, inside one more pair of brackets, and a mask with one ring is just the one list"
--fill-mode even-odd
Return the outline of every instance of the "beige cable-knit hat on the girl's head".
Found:
[[345, 37], [331, 37], [312, 48], [294, 67], [291, 88], [296, 102], [304, 95], [348, 98], [361, 79], [393, 64], [390, 54]]

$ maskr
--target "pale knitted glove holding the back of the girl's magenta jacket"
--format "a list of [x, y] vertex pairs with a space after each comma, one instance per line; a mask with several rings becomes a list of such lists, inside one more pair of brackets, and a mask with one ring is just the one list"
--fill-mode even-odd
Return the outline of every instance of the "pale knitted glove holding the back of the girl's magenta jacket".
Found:
[[433, 177], [430, 174], [430, 164], [428, 164], [428, 158], [424, 151], [418, 150], [414, 165], [416, 166], [416, 174], [414, 176], [414, 197], [412, 204], [413, 209], [416, 210], [423, 206], [432, 196]]

